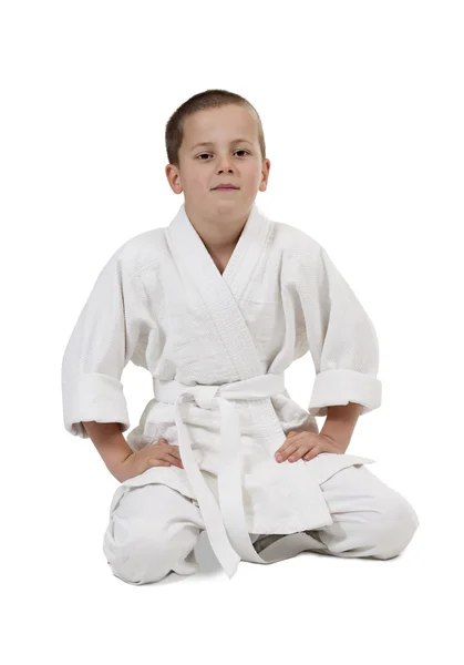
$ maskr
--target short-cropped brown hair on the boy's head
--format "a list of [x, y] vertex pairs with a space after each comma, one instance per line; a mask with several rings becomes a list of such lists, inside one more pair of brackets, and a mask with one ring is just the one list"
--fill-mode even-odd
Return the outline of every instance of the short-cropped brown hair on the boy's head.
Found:
[[178, 153], [182, 144], [182, 140], [184, 137], [184, 120], [187, 115], [192, 115], [197, 111], [205, 111], [206, 109], [217, 109], [219, 106], [225, 106], [226, 104], [237, 104], [239, 106], [245, 106], [249, 109], [254, 115], [256, 116], [256, 122], [258, 124], [258, 140], [259, 147], [261, 150], [262, 160], [266, 160], [266, 142], [265, 142], [265, 133], [262, 131], [261, 119], [259, 117], [258, 112], [255, 106], [248, 102], [245, 98], [236, 94], [235, 92], [229, 92], [228, 90], [205, 90], [204, 92], [199, 92], [198, 94], [194, 94], [189, 100], [184, 102], [176, 111], [174, 111], [173, 115], [169, 117], [166, 124], [166, 152], [169, 164], [173, 164], [177, 168], [179, 167], [179, 158]]

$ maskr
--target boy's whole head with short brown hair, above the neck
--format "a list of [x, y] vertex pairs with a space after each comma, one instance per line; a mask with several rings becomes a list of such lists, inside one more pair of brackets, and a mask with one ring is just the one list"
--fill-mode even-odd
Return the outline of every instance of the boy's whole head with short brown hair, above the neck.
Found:
[[[165, 139], [166, 177], [173, 192], [184, 192], [187, 211], [209, 218], [248, 216], [258, 191], [266, 190], [270, 161], [260, 117], [247, 100], [225, 90], [200, 92], [173, 113]], [[237, 190], [215, 190], [221, 183]]]

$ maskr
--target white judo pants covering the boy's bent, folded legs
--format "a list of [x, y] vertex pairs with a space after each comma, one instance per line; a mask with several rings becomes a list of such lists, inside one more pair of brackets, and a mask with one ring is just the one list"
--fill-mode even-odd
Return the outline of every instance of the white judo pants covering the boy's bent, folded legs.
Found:
[[[305, 551], [392, 559], [419, 526], [408, 500], [364, 466], [342, 469], [320, 488], [333, 523], [306, 531], [312, 545]], [[110, 510], [103, 552], [112, 573], [130, 584], [158, 582], [171, 572], [192, 575], [198, 570], [194, 548], [203, 530], [195, 500], [164, 484], [130, 488]], [[258, 553], [280, 538], [250, 534]]]

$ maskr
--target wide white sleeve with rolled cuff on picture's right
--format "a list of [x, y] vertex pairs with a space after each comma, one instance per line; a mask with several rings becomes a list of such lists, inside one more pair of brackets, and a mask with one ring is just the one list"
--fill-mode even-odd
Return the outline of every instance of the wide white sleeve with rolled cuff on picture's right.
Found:
[[308, 411], [327, 416], [327, 407], [357, 402], [360, 415], [381, 405], [379, 341], [367, 311], [319, 246], [316, 294], [303, 304], [316, 379]]

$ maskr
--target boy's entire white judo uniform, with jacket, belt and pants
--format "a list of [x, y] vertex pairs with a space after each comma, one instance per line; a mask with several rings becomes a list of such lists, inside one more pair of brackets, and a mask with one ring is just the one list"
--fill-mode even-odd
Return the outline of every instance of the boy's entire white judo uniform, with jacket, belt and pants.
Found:
[[[316, 379], [306, 410], [283, 372], [308, 351]], [[178, 444], [184, 469], [153, 467], [117, 488], [104, 536], [116, 576], [141, 584], [171, 570], [195, 572], [202, 530], [229, 577], [240, 560], [271, 563], [313, 549], [390, 557], [410, 542], [419, 519], [365, 469], [373, 459], [324, 452], [275, 460], [290, 430], [319, 431], [315, 416], [327, 407], [358, 402], [363, 415], [381, 403], [373, 325], [306, 233], [255, 203], [223, 275], [185, 204], [167, 227], [127, 241], [100, 273], [64, 351], [69, 432], [87, 438], [87, 420], [130, 428], [121, 381], [130, 361], [151, 372], [154, 398], [128, 446], [164, 438]], [[357, 520], [349, 521], [354, 532], [337, 532], [336, 511], [357, 510], [378, 515], [371, 533], [383, 520], [382, 546], [377, 536], [360, 541]], [[364, 518], [359, 529], [369, 531]]]

